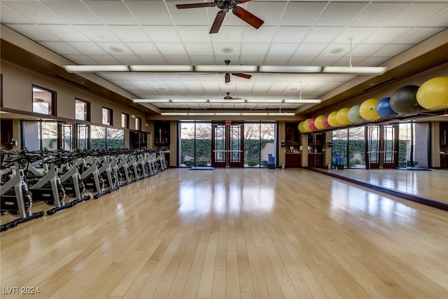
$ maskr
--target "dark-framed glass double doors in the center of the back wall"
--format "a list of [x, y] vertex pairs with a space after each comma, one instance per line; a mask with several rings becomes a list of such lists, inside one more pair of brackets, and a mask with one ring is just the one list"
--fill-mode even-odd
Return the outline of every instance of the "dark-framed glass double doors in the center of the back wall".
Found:
[[211, 165], [216, 167], [243, 167], [242, 123], [213, 123], [211, 130]]

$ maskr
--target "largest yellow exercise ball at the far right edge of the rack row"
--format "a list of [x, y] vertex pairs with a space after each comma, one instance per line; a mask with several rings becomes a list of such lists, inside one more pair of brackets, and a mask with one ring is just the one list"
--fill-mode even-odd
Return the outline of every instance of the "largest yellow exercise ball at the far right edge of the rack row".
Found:
[[429, 79], [417, 90], [416, 98], [426, 109], [448, 108], [448, 77]]

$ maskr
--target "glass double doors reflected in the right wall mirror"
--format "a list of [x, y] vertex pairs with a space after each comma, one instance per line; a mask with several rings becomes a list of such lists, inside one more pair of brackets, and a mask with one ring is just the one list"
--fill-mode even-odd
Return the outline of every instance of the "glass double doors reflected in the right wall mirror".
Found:
[[398, 166], [398, 125], [367, 126], [367, 169]]

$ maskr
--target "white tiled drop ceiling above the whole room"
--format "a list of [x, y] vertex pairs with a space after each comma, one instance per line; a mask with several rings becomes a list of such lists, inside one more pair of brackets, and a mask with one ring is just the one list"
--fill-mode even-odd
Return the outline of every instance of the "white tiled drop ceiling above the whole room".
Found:
[[[448, 27], [448, 1], [249, 1], [260, 29], [219, 9], [179, 10], [202, 1], [1, 1], [1, 23], [73, 64], [316, 65], [375, 67]], [[352, 47], [350, 51], [349, 37]], [[173, 109], [300, 109], [302, 104], [196, 103], [223, 99], [320, 99], [353, 81], [351, 74], [102, 73], [135, 99], [186, 99], [153, 104]], [[131, 100], [131, 99], [130, 99]], [[146, 105], [151, 109], [151, 105]]]

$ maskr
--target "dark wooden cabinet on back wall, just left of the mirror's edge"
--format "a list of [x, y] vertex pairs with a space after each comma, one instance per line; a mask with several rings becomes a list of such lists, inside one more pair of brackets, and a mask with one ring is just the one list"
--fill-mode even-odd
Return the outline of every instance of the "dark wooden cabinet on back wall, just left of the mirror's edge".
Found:
[[299, 123], [285, 123], [286, 167], [302, 166], [302, 155], [300, 154], [301, 137], [298, 125]]

